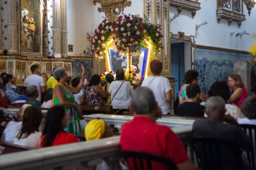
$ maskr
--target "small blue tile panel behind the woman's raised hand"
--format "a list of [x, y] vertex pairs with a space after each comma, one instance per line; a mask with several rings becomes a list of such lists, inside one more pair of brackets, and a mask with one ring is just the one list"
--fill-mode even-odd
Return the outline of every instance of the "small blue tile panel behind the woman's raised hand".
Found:
[[92, 77], [92, 60], [72, 60], [72, 76], [81, 77], [82, 68], [81, 65], [84, 65], [84, 69], [87, 73], [87, 80], [89, 81]]

